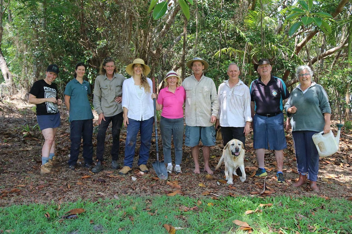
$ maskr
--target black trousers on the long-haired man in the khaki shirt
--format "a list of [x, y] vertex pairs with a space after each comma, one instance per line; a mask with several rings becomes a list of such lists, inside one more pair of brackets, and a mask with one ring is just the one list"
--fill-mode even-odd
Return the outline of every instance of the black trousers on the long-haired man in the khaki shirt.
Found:
[[120, 151], [120, 130], [122, 127], [122, 122], [124, 120], [123, 112], [113, 115], [105, 116], [105, 121], [101, 120], [98, 128], [97, 143], [96, 143], [96, 159], [103, 161], [104, 154], [104, 143], [106, 136], [106, 129], [108, 128], [110, 122], [112, 122], [112, 147], [111, 147], [111, 158], [112, 160], [119, 159]]

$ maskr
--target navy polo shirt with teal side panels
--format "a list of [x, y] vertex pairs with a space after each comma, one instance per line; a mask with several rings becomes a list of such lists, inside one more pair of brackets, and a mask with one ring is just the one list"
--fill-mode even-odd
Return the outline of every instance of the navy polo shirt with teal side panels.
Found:
[[253, 80], [250, 86], [251, 101], [254, 101], [254, 110], [257, 114], [274, 114], [282, 112], [282, 100], [290, 95], [282, 79], [271, 75], [267, 85], [260, 80], [260, 77]]

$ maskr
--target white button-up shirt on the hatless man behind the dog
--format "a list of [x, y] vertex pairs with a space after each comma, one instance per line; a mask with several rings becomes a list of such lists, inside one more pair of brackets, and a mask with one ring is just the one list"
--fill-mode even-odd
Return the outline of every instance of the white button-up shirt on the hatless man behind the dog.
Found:
[[251, 95], [248, 86], [241, 80], [230, 88], [228, 80], [219, 85], [219, 112], [216, 117], [221, 127], [244, 127], [252, 122]]

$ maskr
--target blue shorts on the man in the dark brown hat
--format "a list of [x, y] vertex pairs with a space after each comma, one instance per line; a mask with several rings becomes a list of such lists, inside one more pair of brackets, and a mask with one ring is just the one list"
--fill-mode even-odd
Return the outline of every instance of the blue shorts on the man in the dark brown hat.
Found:
[[287, 148], [284, 114], [266, 117], [258, 114], [253, 119], [253, 148], [281, 150]]

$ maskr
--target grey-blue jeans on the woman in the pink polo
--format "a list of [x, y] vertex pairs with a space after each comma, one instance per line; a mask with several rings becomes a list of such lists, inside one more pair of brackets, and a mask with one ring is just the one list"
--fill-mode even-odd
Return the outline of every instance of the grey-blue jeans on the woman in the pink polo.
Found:
[[163, 152], [165, 163], [171, 162], [171, 136], [174, 139], [175, 163], [180, 165], [182, 162], [183, 144], [183, 117], [180, 119], [168, 119], [161, 116], [160, 132], [163, 140]]

